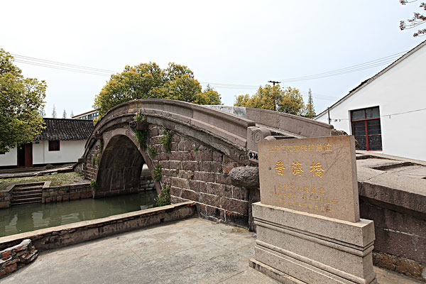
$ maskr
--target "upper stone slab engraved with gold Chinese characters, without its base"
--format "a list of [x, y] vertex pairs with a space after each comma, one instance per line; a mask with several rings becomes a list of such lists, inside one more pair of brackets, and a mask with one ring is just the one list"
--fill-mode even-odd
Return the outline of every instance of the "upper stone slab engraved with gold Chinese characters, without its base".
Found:
[[258, 143], [261, 203], [359, 221], [354, 136]]

